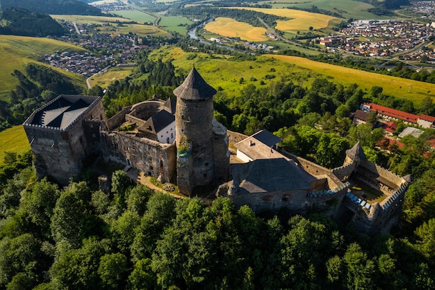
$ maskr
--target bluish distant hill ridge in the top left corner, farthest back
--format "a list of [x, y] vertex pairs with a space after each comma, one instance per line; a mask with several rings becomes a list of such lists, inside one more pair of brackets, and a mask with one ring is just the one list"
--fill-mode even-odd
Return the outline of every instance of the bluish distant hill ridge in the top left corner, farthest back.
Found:
[[79, 0], [0, 0], [1, 10], [25, 8], [35, 13], [60, 15], [102, 15], [101, 10]]

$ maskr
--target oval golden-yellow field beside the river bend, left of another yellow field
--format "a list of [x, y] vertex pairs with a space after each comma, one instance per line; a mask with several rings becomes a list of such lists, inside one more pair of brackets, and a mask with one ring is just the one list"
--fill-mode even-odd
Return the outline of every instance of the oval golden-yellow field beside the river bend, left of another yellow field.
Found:
[[229, 38], [240, 38], [247, 41], [265, 41], [268, 40], [265, 28], [254, 27], [245, 22], [238, 22], [232, 18], [217, 17], [215, 21], [208, 22], [204, 29]]

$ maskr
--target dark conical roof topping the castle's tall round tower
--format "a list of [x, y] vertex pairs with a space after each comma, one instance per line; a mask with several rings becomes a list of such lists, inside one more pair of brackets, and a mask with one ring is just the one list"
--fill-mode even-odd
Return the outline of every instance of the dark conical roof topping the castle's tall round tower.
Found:
[[192, 68], [188, 77], [174, 90], [174, 95], [181, 99], [211, 99], [216, 90], [204, 81], [195, 67]]

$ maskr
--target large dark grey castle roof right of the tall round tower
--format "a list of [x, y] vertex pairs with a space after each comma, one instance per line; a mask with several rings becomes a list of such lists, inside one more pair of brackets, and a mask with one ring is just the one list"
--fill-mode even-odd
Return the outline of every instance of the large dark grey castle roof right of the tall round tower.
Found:
[[306, 176], [294, 161], [279, 159], [256, 159], [231, 166], [234, 185], [249, 193], [309, 190]]

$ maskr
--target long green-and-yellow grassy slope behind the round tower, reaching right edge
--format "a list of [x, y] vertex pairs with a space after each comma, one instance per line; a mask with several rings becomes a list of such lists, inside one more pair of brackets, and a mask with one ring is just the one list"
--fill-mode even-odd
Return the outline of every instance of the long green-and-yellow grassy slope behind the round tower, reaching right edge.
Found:
[[[372, 86], [381, 86], [386, 95], [409, 99], [414, 104], [420, 104], [424, 97], [435, 97], [435, 84], [433, 83], [363, 72], [295, 56], [265, 55], [258, 56], [256, 61], [230, 61], [225, 56], [186, 53], [176, 48], [153, 51], [150, 57], [160, 58], [162, 61], [173, 58], [174, 66], [177, 67], [179, 73], [183, 72], [183, 74], [187, 74], [195, 64], [199, 73], [211, 86], [221, 87], [227, 95], [237, 95], [240, 89], [249, 83], [261, 86], [260, 81], [263, 81], [265, 86], [268, 86], [284, 79], [309, 88], [315, 78], [326, 77], [343, 86], [356, 83], [365, 92], [369, 92]], [[272, 75], [275, 78], [267, 79], [266, 75]], [[241, 78], [244, 80], [243, 83], [240, 83]]]

